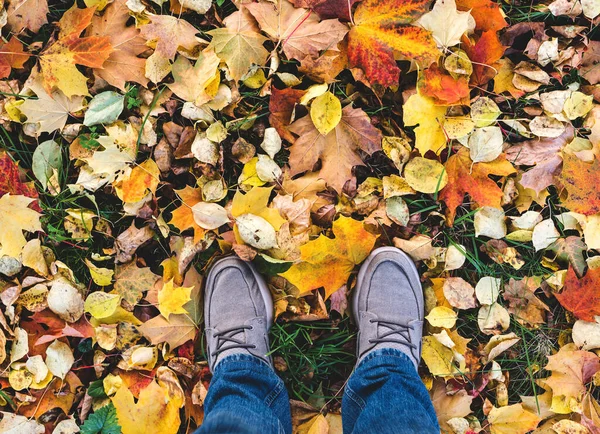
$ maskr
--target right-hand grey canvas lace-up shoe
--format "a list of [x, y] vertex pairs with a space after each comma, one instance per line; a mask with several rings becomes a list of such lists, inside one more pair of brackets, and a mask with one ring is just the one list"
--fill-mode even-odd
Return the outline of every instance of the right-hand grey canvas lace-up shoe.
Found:
[[358, 363], [371, 351], [395, 348], [418, 367], [424, 301], [413, 261], [395, 247], [375, 249], [358, 273], [353, 295]]

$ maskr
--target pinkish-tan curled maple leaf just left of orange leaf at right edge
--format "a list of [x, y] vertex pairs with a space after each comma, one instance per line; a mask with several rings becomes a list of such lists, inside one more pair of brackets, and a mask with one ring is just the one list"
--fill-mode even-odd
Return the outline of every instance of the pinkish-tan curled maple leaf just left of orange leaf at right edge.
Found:
[[506, 158], [513, 164], [535, 166], [523, 173], [520, 184], [538, 194], [552, 185], [562, 163], [560, 151], [574, 137], [575, 129], [569, 125], [558, 137], [528, 140], [508, 148]]

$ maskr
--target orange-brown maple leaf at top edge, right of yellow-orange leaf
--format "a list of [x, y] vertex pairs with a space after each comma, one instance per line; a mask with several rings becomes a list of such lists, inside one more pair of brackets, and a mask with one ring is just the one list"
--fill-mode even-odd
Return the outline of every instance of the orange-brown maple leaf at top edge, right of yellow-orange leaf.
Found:
[[130, 18], [126, 0], [116, 0], [109, 4], [102, 16], [95, 15], [87, 36], [105, 36], [110, 40], [114, 51], [104, 62], [102, 69], [95, 74], [109, 84], [125, 91], [125, 82], [134, 81], [146, 86], [146, 59], [138, 57], [148, 49], [146, 40], [135, 26], [127, 26]]

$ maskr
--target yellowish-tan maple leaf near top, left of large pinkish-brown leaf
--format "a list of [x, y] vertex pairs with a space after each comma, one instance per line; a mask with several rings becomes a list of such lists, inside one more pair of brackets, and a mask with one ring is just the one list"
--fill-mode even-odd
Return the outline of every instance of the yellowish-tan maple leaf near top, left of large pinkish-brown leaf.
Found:
[[263, 65], [269, 52], [263, 47], [267, 40], [259, 33], [256, 20], [244, 8], [223, 20], [224, 28], [207, 32], [213, 37], [210, 47], [227, 64], [229, 74], [240, 80], [252, 65]]

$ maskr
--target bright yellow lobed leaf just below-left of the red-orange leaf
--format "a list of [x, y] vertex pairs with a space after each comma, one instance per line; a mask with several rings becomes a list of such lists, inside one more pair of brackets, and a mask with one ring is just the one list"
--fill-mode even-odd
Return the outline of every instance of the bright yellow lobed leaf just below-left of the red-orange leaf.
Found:
[[415, 126], [415, 147], [425, 155], [427, 151], [436, 154], [446, 147], [443, 125], [446, 107], [435, 105], [430, 98], [414, 94], [404, 104], [404, 125]]

